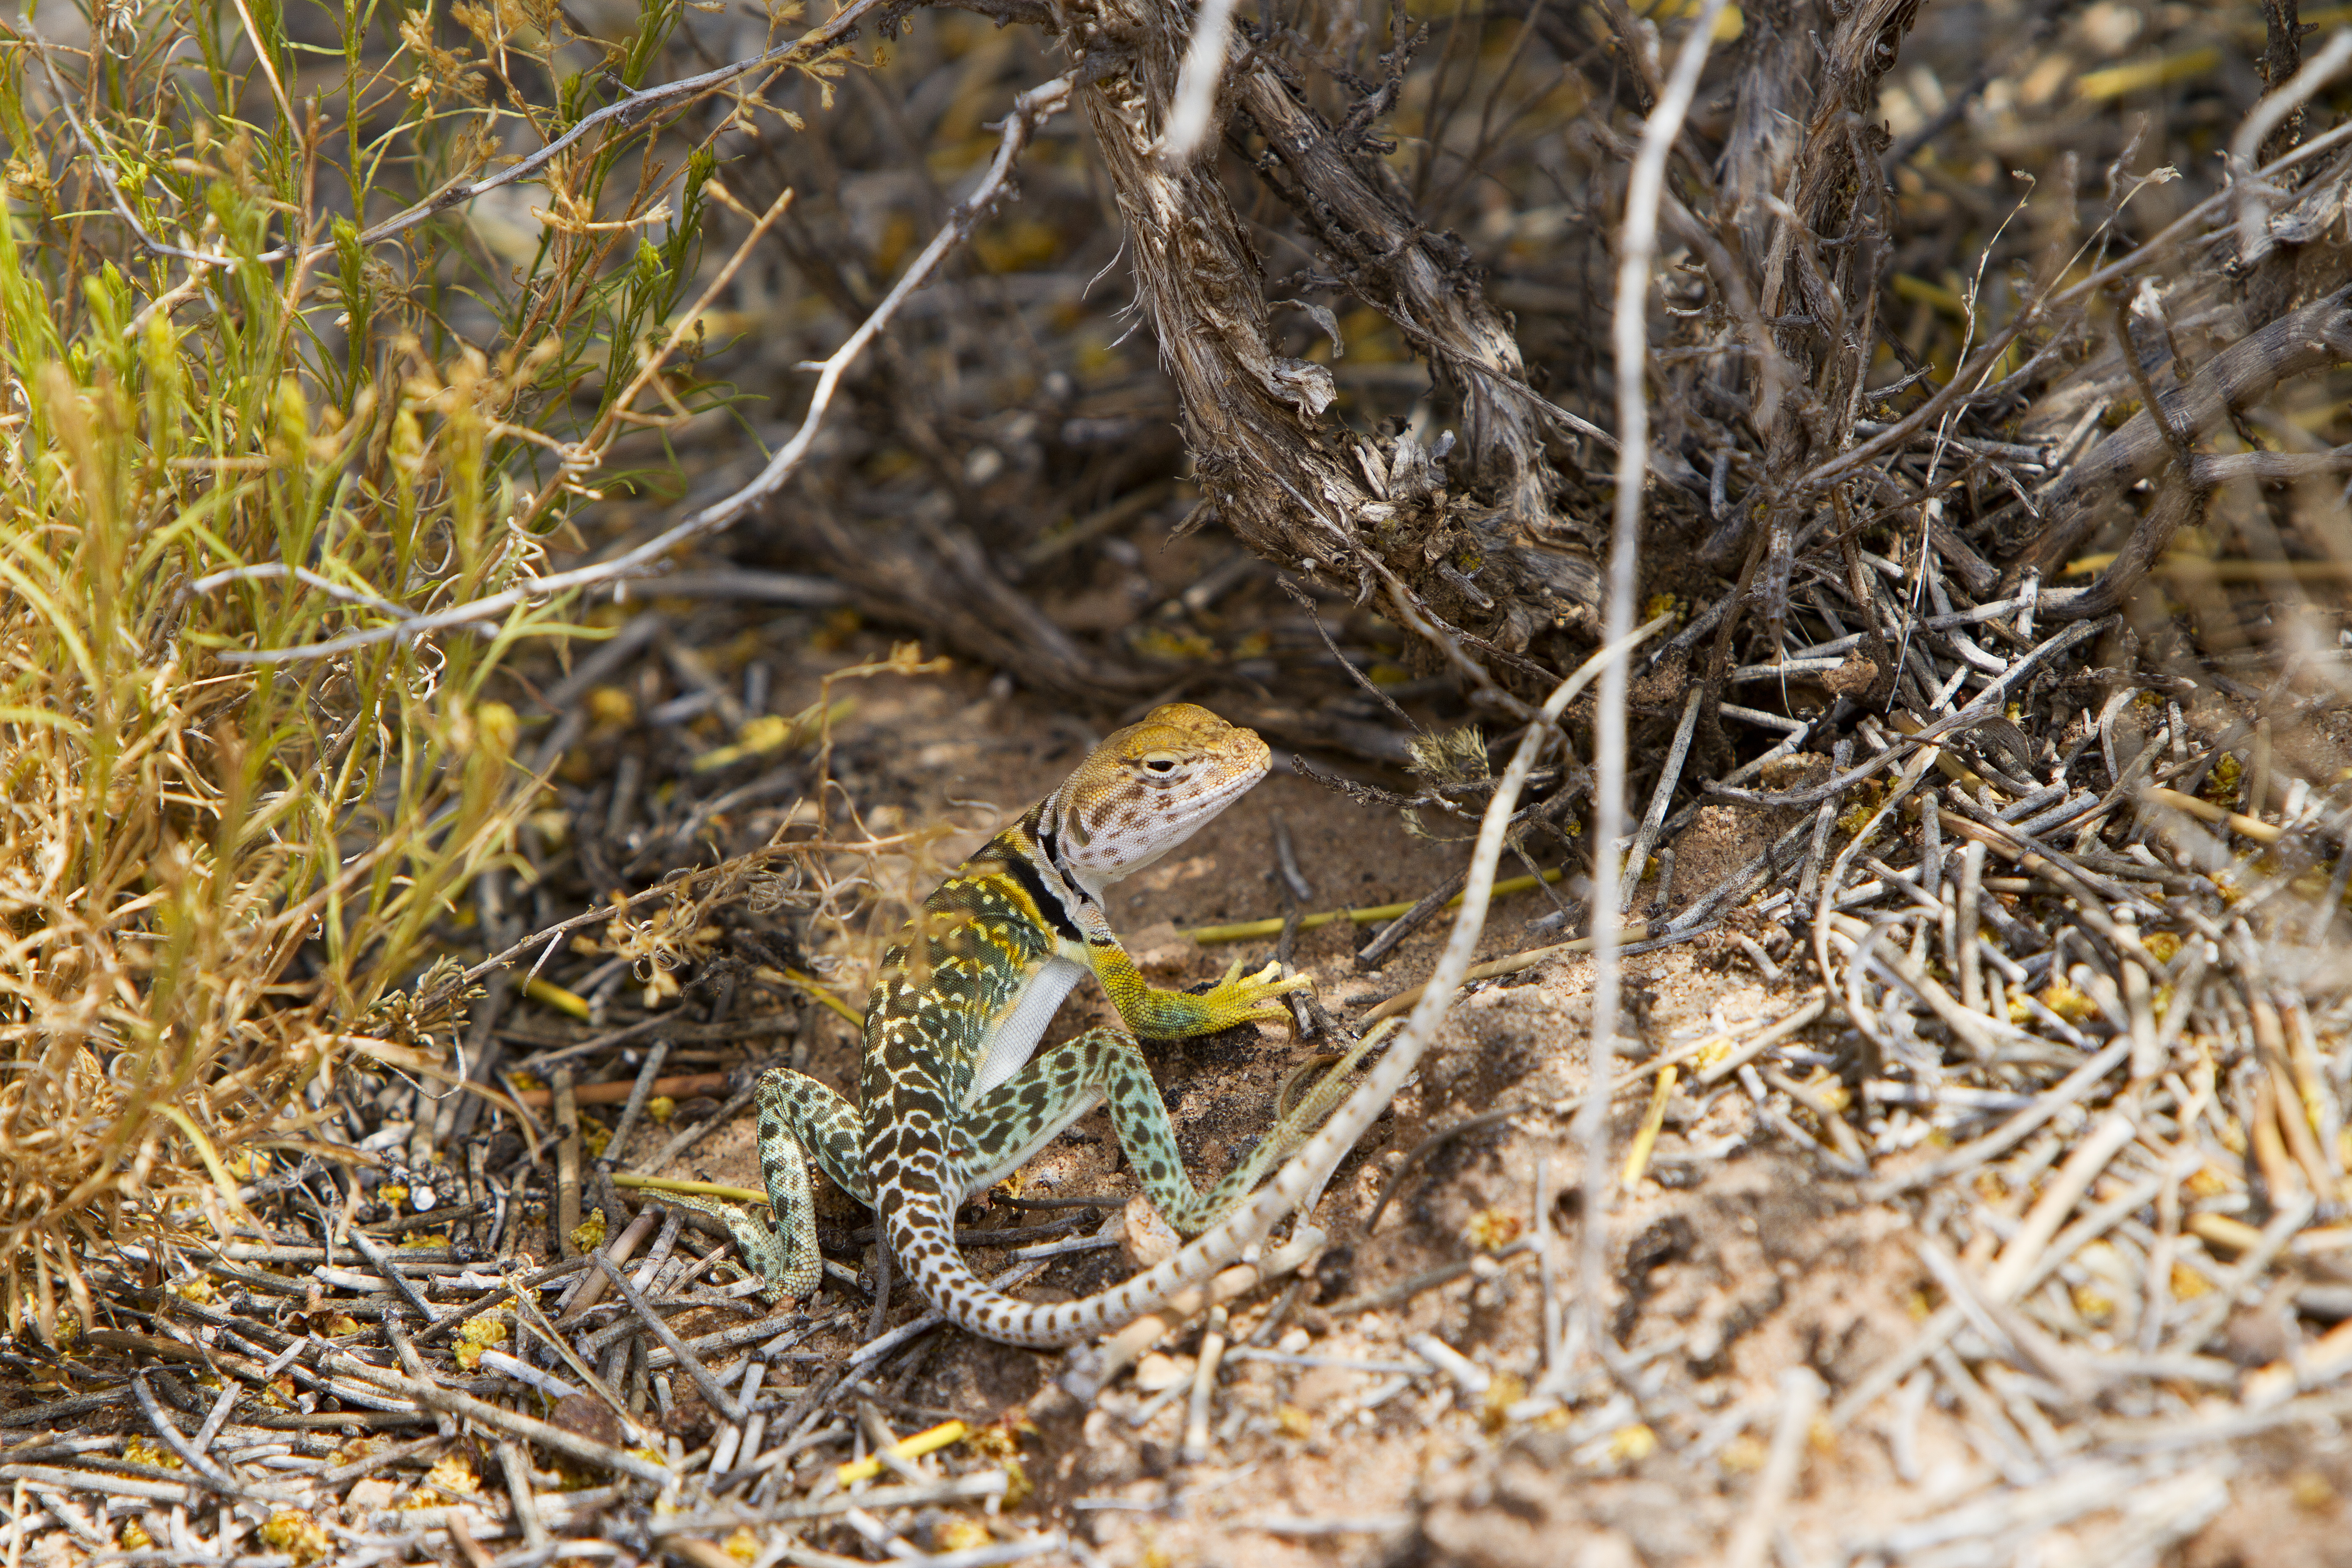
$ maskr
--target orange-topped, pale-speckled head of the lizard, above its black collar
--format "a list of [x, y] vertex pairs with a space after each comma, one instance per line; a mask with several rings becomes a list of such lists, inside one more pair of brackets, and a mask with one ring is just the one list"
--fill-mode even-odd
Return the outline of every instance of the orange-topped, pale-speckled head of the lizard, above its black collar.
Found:
[[1101, 889], [1190, 839], [1265, 778], [1258, 731], [1167, 703], [1108, 736], [1037, 809], [1061, 865]]

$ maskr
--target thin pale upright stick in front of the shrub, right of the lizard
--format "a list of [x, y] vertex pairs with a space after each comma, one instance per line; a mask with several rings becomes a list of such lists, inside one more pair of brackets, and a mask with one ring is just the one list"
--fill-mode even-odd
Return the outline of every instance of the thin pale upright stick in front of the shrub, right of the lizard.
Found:
[[[1642, 125], [1642, 150], [1635, 153], [1632, 179], [1625, 183], [1616, 294], [1618, 489], [1609, 538], [1609, 609], [1602, 630], [1602, 642], [1611, 646], [1632, 630], [1632, 602], [1639, 592], [1635, 567], [1642, 550], [1642, 477], [1649, 470], [1649, 270], [1658, 256], [1658, 197], [1665, 190], [1665, 155], [1675, 146], [1675, 136], [1682, 134], [1682, 118], [1691, 110], [1691, 94], [1698, 92], [1698, 73], [1708, 63], [1715, 21], [1722, 14], [1724, 0], [1708, 0], [1684, 35], [1682, 54], [1675, 56], [1675, 73], [1658, 96], [1658, 108]], [[1597, 1314], [1606, 1279], [1609, 1079], [1616, 1060], [1618, 945], [1623, 938], [1618, 835], [1625, 832], [1628, 675], [1623, 656], [1602, 668], [1599, 722], [1592, 738], [1592, 748], [1599, 752], [1592, 811], [1592, 1046], [1585, 1065], [1585, 1103], [1576, 1112], [1576, 1133], [1585, 1154], [1576, 1312], [1588, 1319], [1588, 1345], [1604, 1342]]]

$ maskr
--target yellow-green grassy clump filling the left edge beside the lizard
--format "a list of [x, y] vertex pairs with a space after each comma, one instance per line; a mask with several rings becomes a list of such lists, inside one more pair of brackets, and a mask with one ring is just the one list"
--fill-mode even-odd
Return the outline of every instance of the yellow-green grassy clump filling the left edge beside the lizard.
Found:
[[614, 120], [541, 174], [541, 223], [492, 244], [430, 216], [499, 155], [489, 85], [569, 120], [675, 24], [581, 45], [553, 12], [165, 5], [12, 35], [7, 1326], [54, 1340], [61, 1295], [87, 1319], [89, 1246], [228, 1225], [310, 1147], [339, 1063], [433, 1072], [454, 1044], [395, 987], [508, 846], [529, 776], [485, 682], [560, 623], [407, 623], [539, 576], [659, 381], [710, 172]]

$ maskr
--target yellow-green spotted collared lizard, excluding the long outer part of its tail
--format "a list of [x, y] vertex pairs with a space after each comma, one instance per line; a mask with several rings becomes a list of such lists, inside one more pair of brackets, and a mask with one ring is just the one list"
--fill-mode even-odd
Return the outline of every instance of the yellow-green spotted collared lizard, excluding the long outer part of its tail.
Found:
[[[760, 1166], [776, 1229], [717, 1211], [774, 1298], [821, 1279], [809, 1159], [882, 1218], [891, 1253], [950, 1321], [1011, 1345], [1073, 1345], [1120, 1324], [1105, 1298], [1023, 1302], [983, 1284], [955, 1246], [955, 1208], [1065, 1126], [1110, 1103], [1145, 1194], [1185, 1234], [1249, 1197], [1336, 1105], [1329, 1074], [1207, 1192], [1192, 1185], [1136, 1037], [1183, 1039], [1284, 1018], [1308, 978], [1235, 964], [1204, 994], [1148, 985], [1103, 910], [1103, 889], [1152, 865], [1265, 776], [1254, 731], [1204, 708], [1155, 708], [1103, 741], [1058, 790], [964, 860], [882, 954], [866, 1004], [861, 1105], [790, 1070], [760, 1079]], [[1094, 976], [1124, 1030], [1037, 1056], [1070, 987]], [[706, 1204], [696, 1204], [706, 1206]]]

